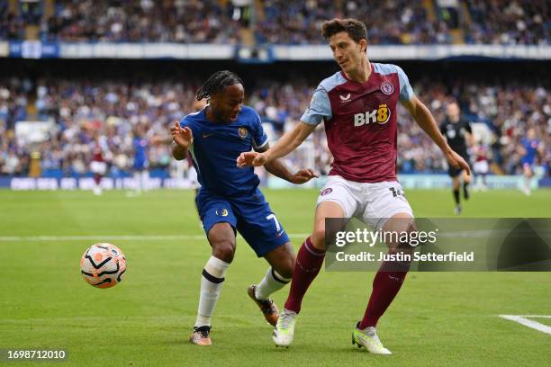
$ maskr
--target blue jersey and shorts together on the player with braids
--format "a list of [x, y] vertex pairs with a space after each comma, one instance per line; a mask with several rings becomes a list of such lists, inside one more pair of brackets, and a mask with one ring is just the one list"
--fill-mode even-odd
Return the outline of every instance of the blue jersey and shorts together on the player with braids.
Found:
[[289, 241], [264, 195], [253, 167], [239, 168], [237, 158], [252, 148], [263, 148], [267, 136], [257, 112], [243, 106], [236, 121], [214, 123], [206, 108], [180, 121], [194, 136], [189, 154], [201, 183], [197, 208], [208, 235], [216, 223], [228, 222], [245, 238], [257, 255]]

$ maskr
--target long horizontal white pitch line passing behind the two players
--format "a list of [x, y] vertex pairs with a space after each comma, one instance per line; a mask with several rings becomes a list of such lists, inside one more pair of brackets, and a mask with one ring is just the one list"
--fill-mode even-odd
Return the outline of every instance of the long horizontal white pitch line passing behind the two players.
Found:
[[[294, 233], [290, 238], [305, 238], [309, 234]], [[87, 236], [0, 236], [0, 242], [47, 242], [85, 240], [174, 241], [204, 239], [204, 235], [87, 235]]]

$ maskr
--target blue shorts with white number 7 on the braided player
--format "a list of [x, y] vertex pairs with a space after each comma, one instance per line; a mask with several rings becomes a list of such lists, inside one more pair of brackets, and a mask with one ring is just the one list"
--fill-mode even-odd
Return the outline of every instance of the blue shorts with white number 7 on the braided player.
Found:
[[289, 242], [285, 229], [258, 189], [250, 196], [239, 198], [227, 198], [201, 189], [195, 200], [207, 236], [216, 223], [230, 223], [258, 257]]

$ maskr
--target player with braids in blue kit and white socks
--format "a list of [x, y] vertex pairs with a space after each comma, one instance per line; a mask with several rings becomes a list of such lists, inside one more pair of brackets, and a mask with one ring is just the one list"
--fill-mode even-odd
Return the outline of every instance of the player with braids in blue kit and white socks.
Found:
[[[258, 189], [254, 168], [240, 169], [235, 163], [243, 152], [269, 148], [257, 112], [243, 105], [243, 82], [230, 71], [218, 71], [199, 89], [196, 98], [207, 98], [209, 104], [176, 122], [171, 131], [173, 156], [181, 160], [189, 152], [193, 159], [201, 184], [196, 203], [212, 246], [212, 255], [203, 269], [199, 309], [190, 341], [212, 345], [212, 312], [235, 254], [236, 231], [258, 257], [270, 264], [262, 281], [248, 287], [248, 296], [273, 326], [278, 311], [269, 295], [291, 281], [295, 257], [285, 229]], [[266, 165], [266, 170], [297, 184], [317, 176], [310, 169], [292, 174], [280, 160]]]

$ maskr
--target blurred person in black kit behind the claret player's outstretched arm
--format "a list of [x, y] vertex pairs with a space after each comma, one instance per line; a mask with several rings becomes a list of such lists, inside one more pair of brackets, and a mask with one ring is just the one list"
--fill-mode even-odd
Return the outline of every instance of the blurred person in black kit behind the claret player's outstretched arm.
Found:
[[[446, 120], [440, 125], [440, 132], [446, 137], [449, 147], [456, 151], [465, 162], [469, 162], [466, 140], [468, 140], [469, 146], [474, 146], [473, 130], [471, 129], [471, 123], [461, 116], [459, 106], [456, 102], [447, 104]], [[471, 176], [463, 167], [456, 168], [451, 165], [447, 168], [447, 174], [453, 180], [452, 191], [456, 203], [454, 212], [458, 215], [461, 214], [461, 198], [459, 194], [461, 182], [463, 181], [463, 197], [465, 200], [468, 200]]]

